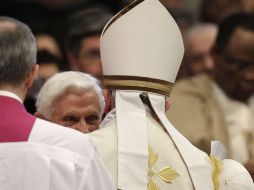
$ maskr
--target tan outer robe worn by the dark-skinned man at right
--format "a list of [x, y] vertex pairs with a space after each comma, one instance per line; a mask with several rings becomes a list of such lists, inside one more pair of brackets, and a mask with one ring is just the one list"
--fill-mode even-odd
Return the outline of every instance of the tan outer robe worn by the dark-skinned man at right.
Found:
[[[166, 115], [172, 124], [201, 150], [209, 154], [210, 142], [220, 140], [228, 150], [228, 157], [237, 159], [232, 154], [225, 112], [215, 94], [214, 85], [207, 75], [177, 82], [169, 98], [172, 105]], [[247, 146], [248, 156], [253, 159], [252, 134], [241, 130], [241, 126], [239, 133], [243, 133], [246, 144], [250, 145]]]

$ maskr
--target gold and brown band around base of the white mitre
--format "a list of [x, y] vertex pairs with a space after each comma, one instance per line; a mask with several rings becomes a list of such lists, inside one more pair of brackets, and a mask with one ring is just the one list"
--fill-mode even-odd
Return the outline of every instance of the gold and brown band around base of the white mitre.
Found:
[[136, 76], [104, 75], [103, 84], [111, 90], [140, 90], [169, 96], [173, 83], [168, 81]]

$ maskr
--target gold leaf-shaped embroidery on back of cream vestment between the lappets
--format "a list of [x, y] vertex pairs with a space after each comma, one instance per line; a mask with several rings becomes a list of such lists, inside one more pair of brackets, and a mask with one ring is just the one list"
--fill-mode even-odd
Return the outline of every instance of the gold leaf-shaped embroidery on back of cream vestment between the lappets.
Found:
[[153, 165], [158, 160], [158, 154], [155, 154], [153, 149], [149, 146], [149, 159], [148, 159], [148, 177], [149, 182], [147, 185], [148, 190], [160, 190], [160, 188], [156, 185], [156, 183], [151, 179], [153, 176], [158, 176], [161, 180], [163, 180], [166, 183], [172, 183], [175, 178], [179, 176], [179, 174], [173, 170], [171, 167], [167, 166], [165, 168], [162, 168], [159, 172], [155, 172], [152, 170]]

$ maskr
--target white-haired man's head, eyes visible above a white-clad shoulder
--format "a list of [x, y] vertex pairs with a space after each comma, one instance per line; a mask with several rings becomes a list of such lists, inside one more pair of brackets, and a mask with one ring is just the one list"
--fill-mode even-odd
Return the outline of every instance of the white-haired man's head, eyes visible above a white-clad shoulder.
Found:
[[55, 74], [42, 86], [35, 115], [89, 133], [99, 128], [104, 106], [102, 89], [96, 78], [67, 71]]

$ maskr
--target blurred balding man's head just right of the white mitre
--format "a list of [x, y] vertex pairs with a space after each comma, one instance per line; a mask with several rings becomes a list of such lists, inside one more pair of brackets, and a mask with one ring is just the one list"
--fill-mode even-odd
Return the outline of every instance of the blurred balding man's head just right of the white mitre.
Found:
[[197, 24], [184, 34], [185, 55], [177, 79], [209, 73], [214, 67], [211, 49], [215, 43], [217, 26], [215, 24]]

